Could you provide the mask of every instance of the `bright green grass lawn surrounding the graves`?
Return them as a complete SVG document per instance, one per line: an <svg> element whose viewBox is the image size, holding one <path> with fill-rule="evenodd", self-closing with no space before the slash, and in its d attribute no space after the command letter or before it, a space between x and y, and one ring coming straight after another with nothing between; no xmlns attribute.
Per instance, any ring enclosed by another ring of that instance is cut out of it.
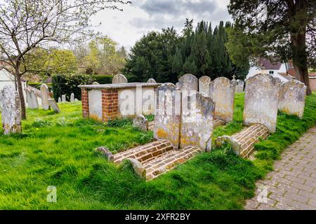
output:
<svg viewBox="0 0 316 224"><path fill-rule="evenodd" d="M243 128L243 102L237 94L234 121L214 137ZM316 124L312 94L303 120L279 114L277 132L256 145L256 160L223 146L146 183L131 167L116 167L93 149L119 152L151 141L152 132L134 129L131 120L83 120L80 103L60 107L58 115L29 110L23 134L0 136L0 209L242 209L282 150ZM57 187L57 203L46 202L48 186Z"/></svg>

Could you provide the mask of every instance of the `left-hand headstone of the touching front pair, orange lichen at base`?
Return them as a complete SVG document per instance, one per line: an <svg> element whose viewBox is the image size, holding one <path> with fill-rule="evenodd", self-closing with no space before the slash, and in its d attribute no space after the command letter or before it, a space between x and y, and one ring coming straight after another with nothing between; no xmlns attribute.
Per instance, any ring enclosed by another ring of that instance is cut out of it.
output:
<svg viewBox="0 0 316 224"><path fill-rule="evenodd" d="M166 139L174 148L180 143L180 98L181 92L172 83L157 87L154 116L154 139Z"/></svg>

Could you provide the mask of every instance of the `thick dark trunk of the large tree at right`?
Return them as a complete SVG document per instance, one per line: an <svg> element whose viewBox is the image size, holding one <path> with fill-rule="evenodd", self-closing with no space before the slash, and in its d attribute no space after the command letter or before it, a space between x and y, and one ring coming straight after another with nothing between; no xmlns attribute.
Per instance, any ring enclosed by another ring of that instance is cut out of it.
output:
<svg viewBox="0 0 316 224"><path fill-rule="evenodd" d="M296 78L307 87L306 94L312 94L308 77L308 61L306 55L305 34L291 34L291 47Z"/></svg>

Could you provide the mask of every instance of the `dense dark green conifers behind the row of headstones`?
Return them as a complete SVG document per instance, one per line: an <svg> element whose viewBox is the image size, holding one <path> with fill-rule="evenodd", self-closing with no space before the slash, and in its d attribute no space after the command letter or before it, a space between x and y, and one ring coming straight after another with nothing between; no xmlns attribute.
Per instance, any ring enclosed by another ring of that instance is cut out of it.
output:
<svg viewBox="0 0 316 224"><path fill-rule="evenodd" d="M124 73L131 81L147 81L154 78L159 83L176 83L185 73L198 78L212 79L225 76L244 79L249 71L249 62L232 63L225 43L228 42L226 29L230 22L220 22L214 30L208 22L199 22L193 31L192 20L185 22L183 35L174 29L152 31L134 45L127 60Z"/></svg>

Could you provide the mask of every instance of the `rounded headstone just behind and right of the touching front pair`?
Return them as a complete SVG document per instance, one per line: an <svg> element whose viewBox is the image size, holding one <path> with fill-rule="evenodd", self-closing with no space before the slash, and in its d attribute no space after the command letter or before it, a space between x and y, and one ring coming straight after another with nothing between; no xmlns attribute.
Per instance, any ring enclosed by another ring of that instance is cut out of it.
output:
<svg viewBox="0 0 316 224"><path fill-rule="evenodd" d="M215 102L215 118L230 123L234 116L235 80L219 77L210 85L209 96Z"/></svg>

